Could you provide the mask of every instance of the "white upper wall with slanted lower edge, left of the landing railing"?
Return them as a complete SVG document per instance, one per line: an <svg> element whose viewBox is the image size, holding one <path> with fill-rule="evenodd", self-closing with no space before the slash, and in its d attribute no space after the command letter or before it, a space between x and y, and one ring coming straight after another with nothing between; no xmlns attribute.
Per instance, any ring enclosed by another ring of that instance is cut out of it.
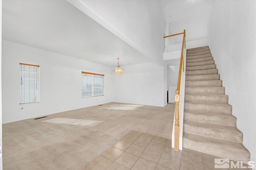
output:
<svg viewBox="0 0 256 170"><path fill-rule="evenodd" d="M157 1L74 1L82 12L140 53L163 64L164 13Z"/></svg>

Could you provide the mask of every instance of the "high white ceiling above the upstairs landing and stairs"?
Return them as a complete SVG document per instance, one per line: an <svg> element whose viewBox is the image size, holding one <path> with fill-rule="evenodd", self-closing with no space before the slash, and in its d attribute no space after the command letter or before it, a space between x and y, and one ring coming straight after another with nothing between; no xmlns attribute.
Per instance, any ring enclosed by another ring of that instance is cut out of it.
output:
<svg viewBox="0 0 256 170"><path fill-rule="evenodd" d="M161 0L166 23L209 18L214 0Z"/></svg>

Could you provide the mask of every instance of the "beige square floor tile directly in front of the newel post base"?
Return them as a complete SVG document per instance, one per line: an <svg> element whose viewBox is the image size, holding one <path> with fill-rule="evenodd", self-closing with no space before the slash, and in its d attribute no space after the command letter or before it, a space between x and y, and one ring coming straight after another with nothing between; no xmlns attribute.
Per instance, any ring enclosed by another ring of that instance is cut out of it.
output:
<svg viewBox="0 0 256 170"><path fill-rule="evenodd" d="M162 165L166 168L170 168L171 170L179 170L180 169L180 159L174 158L172 156L162 154L159 161L159 165Z"/></svg>

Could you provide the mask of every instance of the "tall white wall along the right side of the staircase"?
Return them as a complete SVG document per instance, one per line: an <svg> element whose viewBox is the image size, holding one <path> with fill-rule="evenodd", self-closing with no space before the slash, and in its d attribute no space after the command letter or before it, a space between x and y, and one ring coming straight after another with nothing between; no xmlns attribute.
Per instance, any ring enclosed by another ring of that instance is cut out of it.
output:
<svg viewBox="0 0 256 170"><path fill-rule="evenodd" d="M209 24L210 50L237 117L243 144L256 159L256 1L215 1Z"/></svg>

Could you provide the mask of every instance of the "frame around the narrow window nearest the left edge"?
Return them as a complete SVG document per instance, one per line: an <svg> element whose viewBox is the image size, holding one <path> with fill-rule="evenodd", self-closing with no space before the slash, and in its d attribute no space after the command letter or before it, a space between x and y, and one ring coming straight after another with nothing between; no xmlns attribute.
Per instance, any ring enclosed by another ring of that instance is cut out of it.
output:
<svg viewBox="0 0 256 170"><path fill-rule="evenodd" d="M37 67L37 75L36 75L36 79L37 79L37 88L38 88L38 91L37 91L37 95L38 95L38 100L37 101L34 101L34 102L26 102L26 103L21 103L22 100L21 99L21 65L24 65L24 66L32 66L32 67ZM26 64L26 63L19 63L19 71L20 71L20 78L19 78L19 105L33 105L33 104L38 104L40 102L40 66L39 65L33 65L33 64Z"/></svg>

